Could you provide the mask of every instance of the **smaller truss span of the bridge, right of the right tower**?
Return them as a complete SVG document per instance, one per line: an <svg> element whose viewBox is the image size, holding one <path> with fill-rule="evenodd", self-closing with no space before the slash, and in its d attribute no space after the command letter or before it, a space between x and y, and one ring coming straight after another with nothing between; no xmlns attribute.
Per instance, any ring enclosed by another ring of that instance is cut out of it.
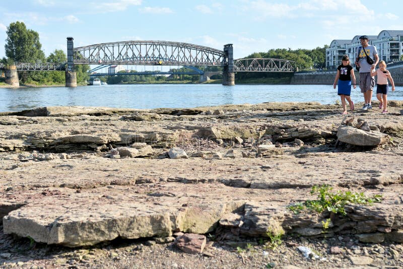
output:
<svg viewBox="0 0 403 269"><path fill-rule="evenodd" d="M294 61L271 58L234 60L234 72L294 72Z"/></svg>

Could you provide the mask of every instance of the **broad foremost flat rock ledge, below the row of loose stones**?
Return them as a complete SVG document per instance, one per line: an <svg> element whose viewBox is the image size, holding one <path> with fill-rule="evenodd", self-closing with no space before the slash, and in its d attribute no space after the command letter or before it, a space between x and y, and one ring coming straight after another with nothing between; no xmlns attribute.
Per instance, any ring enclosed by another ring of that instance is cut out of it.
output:
<svg viewBox="0 0 403 269"><path fill-rule="evenodd" d="M243 225L236 228L247 236L264 236L274 222L303 235L321 234L326 216L294 216L287 206L315 199L310 188L323 183L342 190L348 186L351 191L371 183L380 186L365 193L382 194L383 207L352 210L351 226L362 232L374 232L378 226L401 229L401 223L388 219L403 219L396 215L403 212L401 175L393 173L403 170L403 162L390 163L388 173L382 173L373 170L372 163L360 162L372 156L322 153L244 158L242 163L234 159L111 160L93 156L25 162L29 165L3 171L3 182L9 183L0 195L0 207L8 205L11 211L4 217L4 232L48 244L82 246L117 237L164 237L177 231L205 234L228 214L238 212ZM381 158L380 165L388 158L401 159L399 156ZM360 169L352 170L355 165ZM382 217L385 214L389 217ZM307 227L314 229L307 231ZM372 228L365 231L363 227Z"/></svg>

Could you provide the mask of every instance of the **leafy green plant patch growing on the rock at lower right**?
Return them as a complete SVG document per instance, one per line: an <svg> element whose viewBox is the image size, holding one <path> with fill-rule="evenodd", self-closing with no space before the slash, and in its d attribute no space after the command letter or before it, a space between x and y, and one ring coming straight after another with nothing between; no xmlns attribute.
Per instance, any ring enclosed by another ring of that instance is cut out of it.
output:
<svg viewBox="0 0 403 269"><path fill-rule="evenodd" d="M336 214L346 215L345 206L348 204L371 205L380 203L382 195L375 194L372 197L367 197L363 192L353 193L351 191L330 192L333 188L329 185L313 186L311 194L318 194L316 200L306 200L304 203L297 203L288 206L294 214L298 214L304 210L315 211L322 213L324 211L333 212Z"/></svg>

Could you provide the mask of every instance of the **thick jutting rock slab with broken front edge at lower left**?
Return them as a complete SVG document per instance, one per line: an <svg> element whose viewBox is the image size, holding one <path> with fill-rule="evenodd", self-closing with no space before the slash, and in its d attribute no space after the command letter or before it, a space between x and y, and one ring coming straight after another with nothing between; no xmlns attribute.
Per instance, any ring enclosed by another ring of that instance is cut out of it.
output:
<svg viewBox="0 0 403 269"><path fill-rule="evenodd" d="M223 215L244 204L244 190L237 193L237 200L230 187L220 188L227 188L228 194L217 198L208 191L208 184L180 188L174 183L156 186L153 192L144 186L59 190L4 217L4 232L66 246L117 237L165 237L175 231L205 234L213 231Z"/></svg>

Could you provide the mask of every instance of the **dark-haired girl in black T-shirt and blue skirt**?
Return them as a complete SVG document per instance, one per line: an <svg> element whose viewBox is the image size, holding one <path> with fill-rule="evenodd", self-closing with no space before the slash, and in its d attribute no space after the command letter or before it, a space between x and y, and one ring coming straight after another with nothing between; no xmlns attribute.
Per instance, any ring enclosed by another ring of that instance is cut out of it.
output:
<svg viewBox="0 0 403 269"><path fill-rule="evenodd" d="M337 74L334 79L333 89L336 88L338 83L338 95L342 99L343 112L342 114L348 114L346 108L346 99L349 102L350 110L354 110L354 103L351 100L351 80L353 79L353 87L356 88L356 76L354 75L353 66L350 65L350 59L348 55L344 55L342 58L342 64L337 68Z"/></svg>

